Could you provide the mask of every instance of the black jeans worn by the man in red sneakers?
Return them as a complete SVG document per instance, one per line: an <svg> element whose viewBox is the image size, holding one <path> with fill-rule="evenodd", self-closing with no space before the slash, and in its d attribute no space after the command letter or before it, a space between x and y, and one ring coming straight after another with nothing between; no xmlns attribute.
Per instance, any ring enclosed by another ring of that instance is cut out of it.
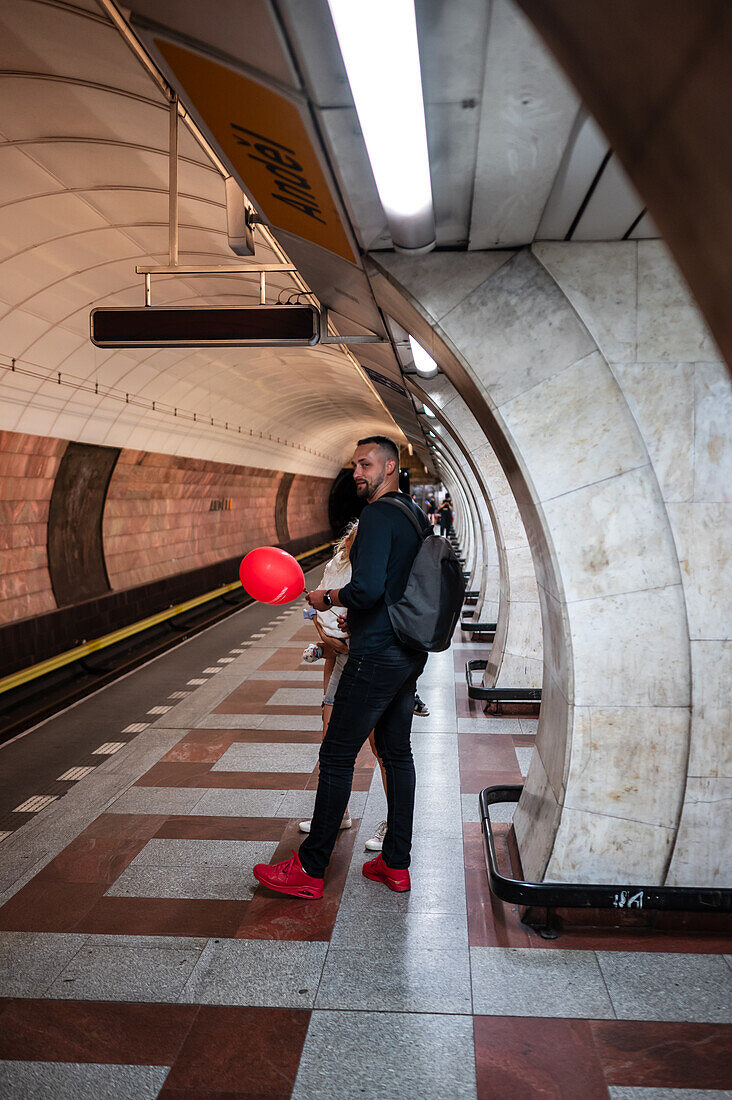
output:
<svg viewBox="0 0 732 1100"><path fill-rule="evenodd" d="M310 832L299 848L308 875L323 878L338 837L353 782L353 765L373 729L386 772L387 867L409 866L415 772L409 734L417 678L426 656L392 646L380 653L349 657L328 732L320 746L320 776Z"/></svg>

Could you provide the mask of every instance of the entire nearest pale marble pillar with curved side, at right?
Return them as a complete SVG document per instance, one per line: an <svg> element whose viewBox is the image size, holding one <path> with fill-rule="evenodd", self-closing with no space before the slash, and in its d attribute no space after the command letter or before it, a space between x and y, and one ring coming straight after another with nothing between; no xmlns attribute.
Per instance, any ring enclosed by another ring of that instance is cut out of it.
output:
<svg viewBox="0 0 732 1100"><path fill-rule="evenodd" d="M493 444L532 547L545 663L514 818L525 873L719 884L732 392L666 250L374 256L372 285Z"/></svg>

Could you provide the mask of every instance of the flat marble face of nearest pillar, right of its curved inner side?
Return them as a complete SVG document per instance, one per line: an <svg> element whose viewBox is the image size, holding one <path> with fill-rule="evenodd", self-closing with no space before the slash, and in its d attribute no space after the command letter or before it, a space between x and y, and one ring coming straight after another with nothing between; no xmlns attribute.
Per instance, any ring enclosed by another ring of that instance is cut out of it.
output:
<svg viewBox="0 0 732 1100"><path fill-rule="evenodd" d="M729 372L660 242L584 244L577 251L562 243L535 251L611 361L643 436L676 544L691 637L689 776L726 778L732 754L732 670L725 640L732 617L732 525L725 508L732 495ZM629 337L635 326L634 354L630 340L613 342L615 326ZM699 845L703 837L708 850L719 846L720 806L715 800L697 799L691 780L687 799L674 850L674 881L686 876L688 882L711 884L717 864Z"/></svg>

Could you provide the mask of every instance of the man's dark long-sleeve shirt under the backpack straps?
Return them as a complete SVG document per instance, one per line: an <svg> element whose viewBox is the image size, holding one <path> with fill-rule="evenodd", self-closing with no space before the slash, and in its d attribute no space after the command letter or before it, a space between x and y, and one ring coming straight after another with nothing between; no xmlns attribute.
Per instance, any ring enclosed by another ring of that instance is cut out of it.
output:
<svg viewBox="0 0 732 1100"><path fill-rule="evenodd" d="M431 534L422 508L404 493L385 493L361 513L350 554L353 572L350 582L340 590L340 603L348 607L350 652L357 656L400 645L392 630L386 600L395 603L404 595L422 543L402 508L385 503L389 497L406 504L425 535Z"/></svg>

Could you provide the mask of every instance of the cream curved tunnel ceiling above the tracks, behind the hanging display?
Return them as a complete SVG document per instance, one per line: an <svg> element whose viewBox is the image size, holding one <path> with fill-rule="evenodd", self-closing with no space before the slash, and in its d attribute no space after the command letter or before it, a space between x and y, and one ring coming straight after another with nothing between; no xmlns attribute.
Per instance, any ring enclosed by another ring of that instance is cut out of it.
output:
<svg viewBox="0 0 732 1100"><path fill-rule="evenodd" d="M354 433L394 435L339 346L90 343L90 309L141 306L135 264L167 263L167 103L92 0L7 0L1 20L0 363L15 371L0 375L0 428L320 474ZM223 178L184 124L178 188L179 262L237 262ZM271 237L255 244L256 263L281 262ZM267 276L269 301L296 289ZM155 305L258 301L256 278L153 277Z"/></svg>

